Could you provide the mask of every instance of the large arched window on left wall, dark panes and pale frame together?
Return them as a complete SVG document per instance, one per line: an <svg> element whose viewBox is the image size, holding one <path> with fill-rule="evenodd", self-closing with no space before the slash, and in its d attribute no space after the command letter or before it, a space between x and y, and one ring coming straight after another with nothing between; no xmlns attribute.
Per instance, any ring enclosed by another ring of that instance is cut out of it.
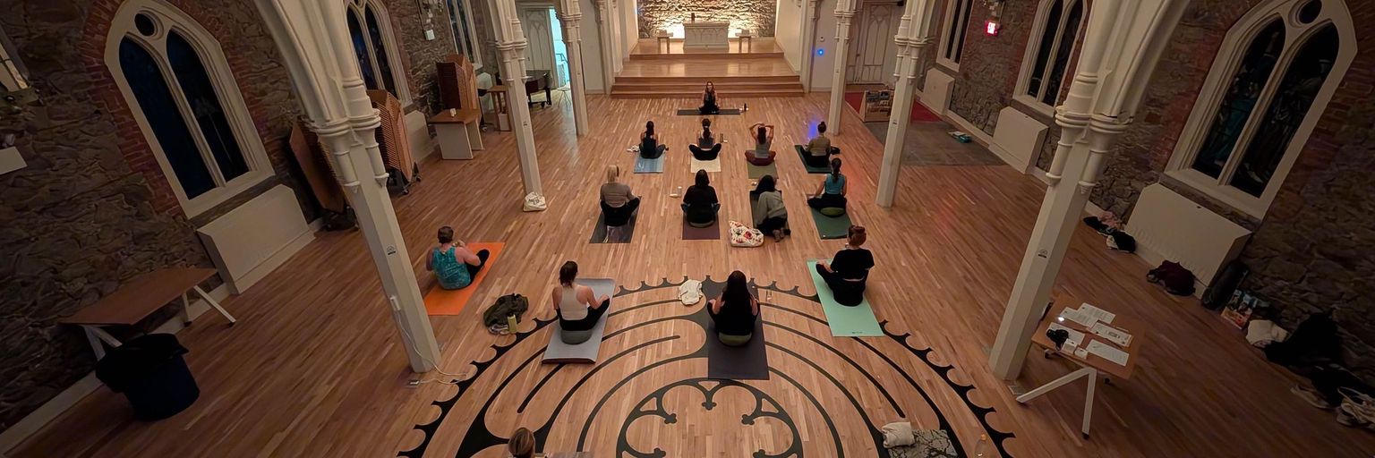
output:
<svg viewBox="0 0 1375 458"><path fill-rule="evenodd" d="M184 12L125 3L104 62L187 216L272 175L219 41Z"/></svg>

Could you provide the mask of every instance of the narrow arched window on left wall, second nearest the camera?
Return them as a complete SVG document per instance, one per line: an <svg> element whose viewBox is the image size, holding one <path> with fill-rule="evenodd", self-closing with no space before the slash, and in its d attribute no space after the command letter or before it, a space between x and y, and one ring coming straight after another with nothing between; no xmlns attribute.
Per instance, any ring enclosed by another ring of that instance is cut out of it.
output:
<svg viewBox="0 0 1375 458"><path fill-rule="evenodd" d="M406 87L406 72L397 61L400 52L386 8L373 0L348 0L348 6L344 15L363 84L368 89L390 92L403 103L408 102L411 98Z"/></svg>

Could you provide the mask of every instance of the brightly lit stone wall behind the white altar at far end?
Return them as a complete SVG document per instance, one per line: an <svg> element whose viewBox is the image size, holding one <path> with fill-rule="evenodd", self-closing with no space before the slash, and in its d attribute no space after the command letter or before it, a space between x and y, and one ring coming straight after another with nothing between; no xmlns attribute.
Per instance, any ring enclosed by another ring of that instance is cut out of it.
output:
<svg viewBox="0 0 1375 458"><path fill-rule="evenodd" d="M732 33L751 29L756 37L771 37L778 15L776 0L639 0L638 8L641 39L689 22L694 12L698 22L729 21Z"/></svg>

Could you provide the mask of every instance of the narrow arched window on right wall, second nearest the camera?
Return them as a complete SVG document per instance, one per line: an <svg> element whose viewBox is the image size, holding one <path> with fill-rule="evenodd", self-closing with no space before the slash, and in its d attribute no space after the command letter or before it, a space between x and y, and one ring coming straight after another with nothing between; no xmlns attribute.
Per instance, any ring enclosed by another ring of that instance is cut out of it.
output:
<svg viewBox="0 0 1375 458"><path fill-rule="evenodd" d="M1037 10L1035 29L1027 40L1022 59L1022 77L1016 98L1027 105L1050 111L1060 103L1060 89L1070 58L1074 55L1079 30L1088 17L1084 0L1046 0Z"/></svg>

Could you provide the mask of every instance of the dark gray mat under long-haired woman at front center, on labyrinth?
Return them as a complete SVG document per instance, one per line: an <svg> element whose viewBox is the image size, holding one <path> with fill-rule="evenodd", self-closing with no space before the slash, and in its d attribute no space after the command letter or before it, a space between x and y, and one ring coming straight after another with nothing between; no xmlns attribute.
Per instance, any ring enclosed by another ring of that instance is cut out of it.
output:
<svg viewBox="0 0 1375 458"><path fill-rule="evenodd" d="M720 290L725 283L701 283L701 293L705 304L707 300L716 298L720 296ZM749 293L756 298L759 297L759 287L749 285ZM712 323L711 315L705 309L701 311L700 316L705 322L703 327L707 329L707 378L718 380L769 380L769 352L764 351L764 319L763 309L759 311L759 318L755 319L754 337L745 347L729 347L716 338L716 325Z"/></svg>

